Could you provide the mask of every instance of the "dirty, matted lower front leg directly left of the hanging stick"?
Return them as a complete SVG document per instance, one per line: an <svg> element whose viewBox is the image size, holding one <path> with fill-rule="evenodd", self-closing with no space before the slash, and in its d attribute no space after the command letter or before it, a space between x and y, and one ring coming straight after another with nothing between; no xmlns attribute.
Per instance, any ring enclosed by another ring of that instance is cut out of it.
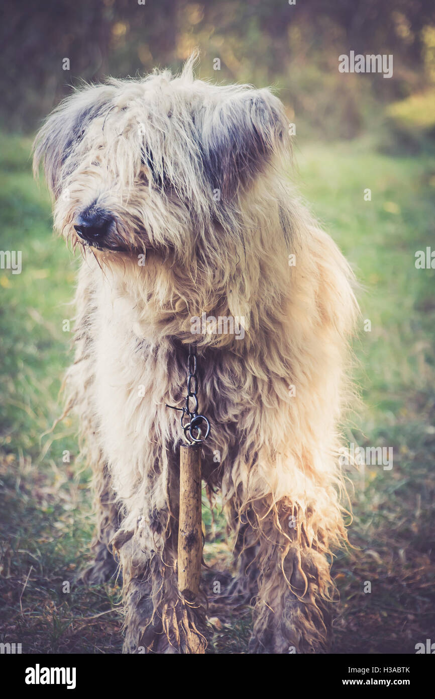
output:
<svg viewBox="0 0 435 699"><path fill-rule="evenodd" d="M202 592L189 603L177 588L177 487L171 492L158 509L152 493L138 499L112 542L124 579L125 653L199 654L207 646Z"/></svg>

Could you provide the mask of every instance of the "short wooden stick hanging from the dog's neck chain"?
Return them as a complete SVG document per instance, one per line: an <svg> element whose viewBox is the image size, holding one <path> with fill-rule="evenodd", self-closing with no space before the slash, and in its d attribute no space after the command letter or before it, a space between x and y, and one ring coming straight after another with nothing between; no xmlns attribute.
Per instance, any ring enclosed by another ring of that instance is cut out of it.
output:
<svg viewBox="0 0 435 699"><path fill-rule="evenodd" d="M202 559L202 445L179 449L178 588L192 602L198 595Z"/></svg>

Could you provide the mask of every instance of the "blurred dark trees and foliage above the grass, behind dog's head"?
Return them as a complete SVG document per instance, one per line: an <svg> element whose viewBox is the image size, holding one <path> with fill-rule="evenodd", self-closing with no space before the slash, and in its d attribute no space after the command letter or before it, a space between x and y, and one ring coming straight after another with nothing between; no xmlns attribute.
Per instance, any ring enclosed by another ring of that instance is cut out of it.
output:
<svg viewBox="0 0 435 699"><path fill-rule="evenodd" d="M1 1L0 122L12 129L34 130L69 85L178 69L195 45L201 75L277 85L290 115L327 136L355 135L376 103L429 80L434 0ZM392 53L394 80L341 75L350 50Z"/></svg>

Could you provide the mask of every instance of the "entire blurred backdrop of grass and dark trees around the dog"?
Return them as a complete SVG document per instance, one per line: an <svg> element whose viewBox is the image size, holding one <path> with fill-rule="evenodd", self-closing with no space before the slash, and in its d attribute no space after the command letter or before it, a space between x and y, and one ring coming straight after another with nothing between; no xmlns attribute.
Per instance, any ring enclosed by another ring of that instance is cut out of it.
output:
<svg viewBox="0 0 435 699"><path fill-rule="evenodd" d="M414 653L435 641L435 271L415 268L415 252L435 250L433 1L2 4L0 248L22 250L22 273L0 270L0 642L26 653L121 647L119 587L65 591L92 531L77 426L68 418L48 431L71 361L78 261L52 237L31 140L71 85L177 71L196 47L200 78L277 90L296 127L288 176L361 282L362 406L344 433L394 457L392 470L349 469L353 547L332 569L341 593L333 652ZM393 77L339 73L339 55L351 50L392 54ZM222 570L230 547L219 507L205 504L204 519L207 562ZM249 610L213 624L210 652L246 652Z"/></svg>

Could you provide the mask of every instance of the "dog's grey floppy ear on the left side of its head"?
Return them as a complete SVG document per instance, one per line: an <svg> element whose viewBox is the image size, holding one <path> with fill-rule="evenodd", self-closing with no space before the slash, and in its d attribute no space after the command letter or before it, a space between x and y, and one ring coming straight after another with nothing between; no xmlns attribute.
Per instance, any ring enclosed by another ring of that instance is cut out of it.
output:
<svg viewBox="0 0 435 699"><path fill-rule="evenodd" d="M67 97L50 114L34 141L34 175L43 163L47 185L54 196L60 192L61 168L89 123L108 109L112 88L87 87Z"/></svg>

